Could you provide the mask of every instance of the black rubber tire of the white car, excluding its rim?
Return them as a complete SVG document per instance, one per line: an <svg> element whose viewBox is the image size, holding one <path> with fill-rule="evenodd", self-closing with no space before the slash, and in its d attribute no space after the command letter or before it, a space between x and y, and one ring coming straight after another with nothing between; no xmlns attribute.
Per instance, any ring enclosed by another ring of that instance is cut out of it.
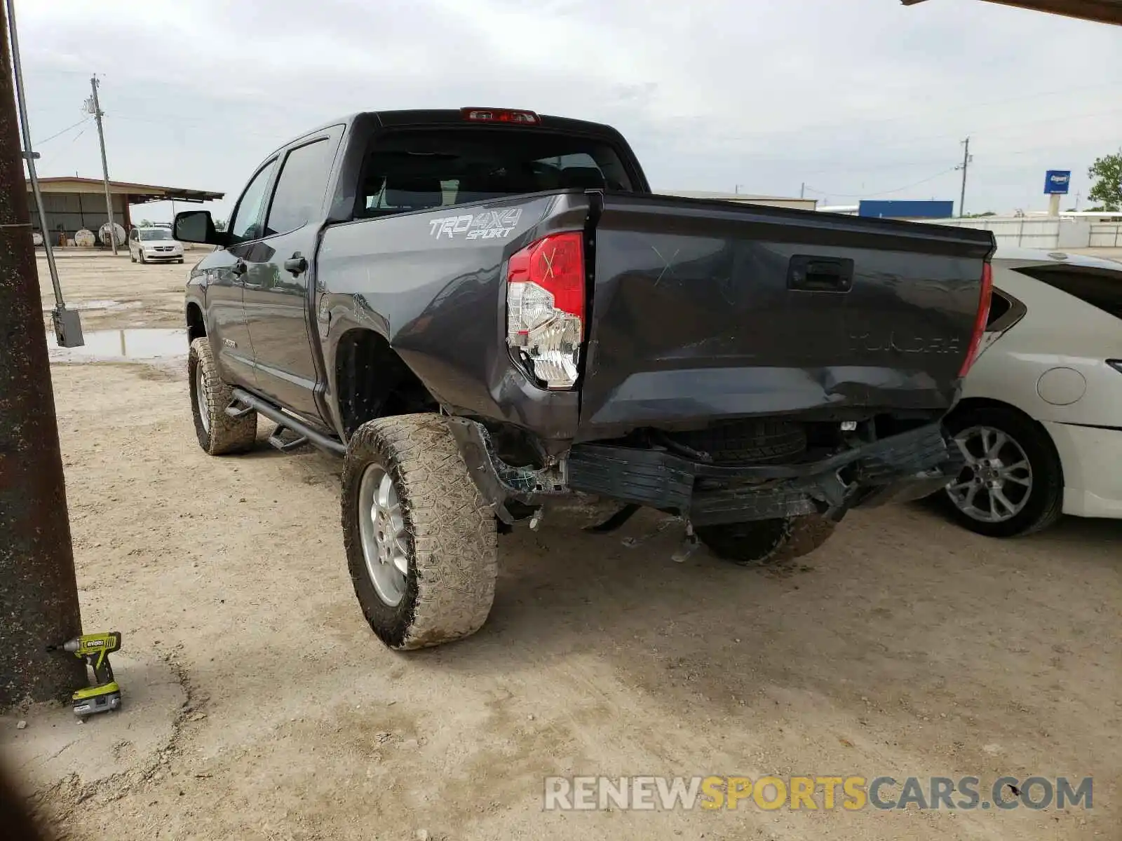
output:
<svg viewBox="0 0 1122 841"><path fill-rule="evenodd" d="M1028 415L1003 406L969 406L951 412L944 420L951 436L972 426L990 426L1013 438L1028 456L1032 468L1029 500L1015 516L1001 523L983 523L964 514L939 491L938 505L955 523L986 537L1020 537L1048 528L1064 512L1064 466L1056 445L1042 426Z"/></svg>

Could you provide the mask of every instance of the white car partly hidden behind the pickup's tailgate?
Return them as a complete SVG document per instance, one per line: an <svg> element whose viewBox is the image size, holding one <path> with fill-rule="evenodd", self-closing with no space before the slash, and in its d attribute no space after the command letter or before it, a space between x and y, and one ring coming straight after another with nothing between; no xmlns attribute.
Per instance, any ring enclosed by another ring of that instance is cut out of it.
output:
<svg viewBox="0 0 1122 841"><path fill-rule="evenodd" d="M987 333L946 425L967 464L944 501L966 528L1122 518L1122 262L997 249Z"/></svg>

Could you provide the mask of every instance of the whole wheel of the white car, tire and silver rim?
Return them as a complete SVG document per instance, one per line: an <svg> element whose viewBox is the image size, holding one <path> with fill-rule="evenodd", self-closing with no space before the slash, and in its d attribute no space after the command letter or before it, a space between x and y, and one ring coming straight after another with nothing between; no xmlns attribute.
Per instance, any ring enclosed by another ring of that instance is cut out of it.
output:
<svg viewBox="0 0 1122 841"><path fill-rule="evenodd" d="M951 413L947 431L966 466L942 491L950 516L987 537L1031 534L1055 523L1064 506L1064 472L1048 433L1012 408Z"/></svg>

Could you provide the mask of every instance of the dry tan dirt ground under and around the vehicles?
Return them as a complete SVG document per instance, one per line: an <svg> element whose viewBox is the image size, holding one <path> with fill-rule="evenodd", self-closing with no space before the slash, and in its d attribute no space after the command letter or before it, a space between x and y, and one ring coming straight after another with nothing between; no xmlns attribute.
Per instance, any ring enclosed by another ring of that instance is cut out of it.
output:
<svg viewBox="0 0 1122 841"><path fill-rule="evenodd" d="M178 326L184 267L59 266L141 302L86 331ZM558 514L502 538L478 635L401 655L351 591L338 461L204 455L177 363L52 375L84 625L184 699L150 761L30 786L66 838L1122 838L1122 523L995 542L892 507L778 575ZM83 729L141 715L144 674ZM543 811L545 776L599 774L1094 776L1094 808Z"/></svg>

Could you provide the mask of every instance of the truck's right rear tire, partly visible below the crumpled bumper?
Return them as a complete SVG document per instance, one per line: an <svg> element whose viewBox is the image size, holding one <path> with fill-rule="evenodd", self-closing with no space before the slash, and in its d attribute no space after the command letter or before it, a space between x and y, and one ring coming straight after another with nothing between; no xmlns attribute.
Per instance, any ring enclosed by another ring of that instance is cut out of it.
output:
<svg viewBox="0 0 1122 841"><path fill-rule="evenodd" d="M698 538L724 561L741 566L775 566L817 549L837 526L817 515L719 526L698 526Z"/></svg>

